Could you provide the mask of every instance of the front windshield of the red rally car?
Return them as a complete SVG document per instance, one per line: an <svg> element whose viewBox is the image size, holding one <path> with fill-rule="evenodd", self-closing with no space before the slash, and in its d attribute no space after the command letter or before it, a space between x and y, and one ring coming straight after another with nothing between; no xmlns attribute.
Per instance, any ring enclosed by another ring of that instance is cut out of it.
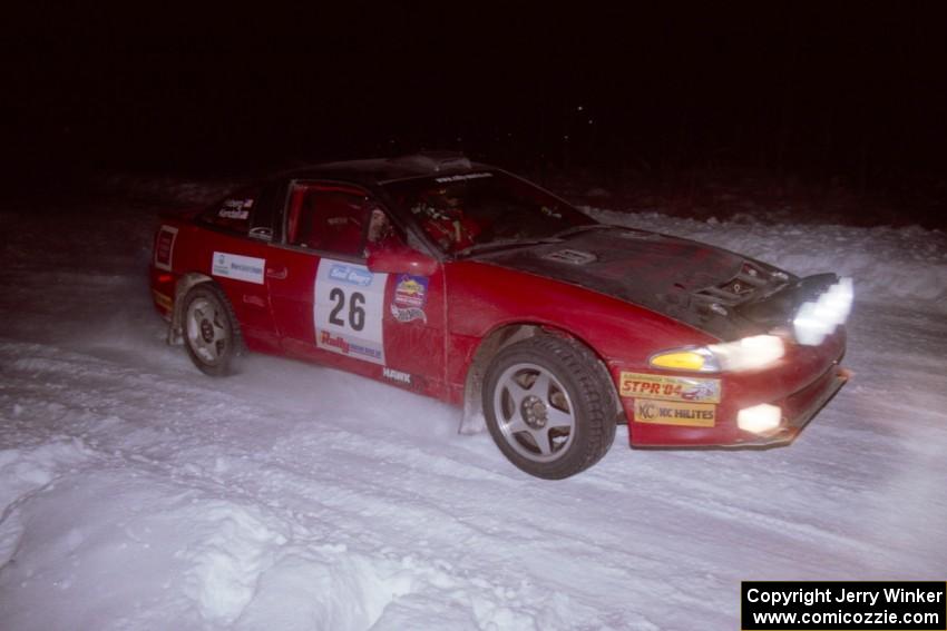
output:
<svg viewBox="0 0 947 631"><path fill-rule="evenodd" d="M417 178L385 189L442 252L460 256L597 225L562 199L501 171Z"/></svg>

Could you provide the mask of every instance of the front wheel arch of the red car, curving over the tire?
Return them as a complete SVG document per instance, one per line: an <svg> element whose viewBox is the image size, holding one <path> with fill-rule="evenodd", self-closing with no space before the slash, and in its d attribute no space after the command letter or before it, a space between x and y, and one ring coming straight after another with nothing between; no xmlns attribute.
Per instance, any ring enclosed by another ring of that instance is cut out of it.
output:
<svg viewBox="0 0 947 631"><path fill-rule="evenodd" d="M537 335L554 335L580 344L588 349L598 359L598 367L612 391L613 401L615 402L615 422L617 424L624 424L626 422L625 411L622 407L618 391L615 387L615 382L612 379L612 374L608 372L607 364L590 344L563 328L541 323L520 322L507 323L495 327L484 336L477 346L477 351L473 352L473 358L467 368L467 377L463 383L463 416L460 421L460 433L472 434L485 427L482 402L484 377L487 366L490 365L497 353L510 344Z"/></svg>

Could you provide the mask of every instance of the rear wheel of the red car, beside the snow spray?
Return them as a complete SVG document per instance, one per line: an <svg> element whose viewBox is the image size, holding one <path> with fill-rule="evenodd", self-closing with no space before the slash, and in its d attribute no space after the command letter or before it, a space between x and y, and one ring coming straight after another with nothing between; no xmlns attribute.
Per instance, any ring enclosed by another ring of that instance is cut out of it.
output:
<svg viewBox="0 0 947 631"><path fill-rule="evenodd" d="M226 296L209 283L196 285L184 298L184 345L202 372L212 376L233 372L240 328Z"/></svg>

